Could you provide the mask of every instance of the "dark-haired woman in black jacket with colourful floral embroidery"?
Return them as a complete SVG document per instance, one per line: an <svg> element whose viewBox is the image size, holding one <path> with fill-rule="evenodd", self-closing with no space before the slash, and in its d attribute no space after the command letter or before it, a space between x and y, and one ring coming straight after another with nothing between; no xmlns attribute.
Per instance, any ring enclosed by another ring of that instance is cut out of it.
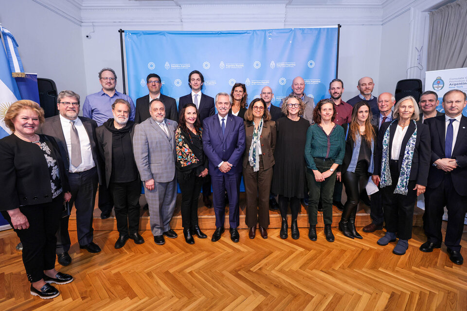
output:
<svg viewBox="0 0 467 311"><path fill-rule="evenodd" d="M208 174L202 132L196 105L186 104L180 111L175 146L177 179L181 190L181 223L188 244L195 243L194 234L200 239L207 238L198 226L198 197L203 177Z"/></svg>

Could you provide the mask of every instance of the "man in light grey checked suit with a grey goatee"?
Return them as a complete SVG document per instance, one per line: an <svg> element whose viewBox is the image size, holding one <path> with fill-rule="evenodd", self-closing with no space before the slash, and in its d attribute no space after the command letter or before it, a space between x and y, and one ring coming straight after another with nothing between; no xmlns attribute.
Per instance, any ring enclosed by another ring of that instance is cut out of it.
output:
<svg viewBox="0 0 467 311"><path fill-rule="evenodd" d="M149 105L151 118L135 126L133 153L136 166L144 181L149 219L154 242L165 243L167 238L177 238L170 229L177 200L175 173L175 130L177 122L165 119L165 106L154 99Z"/></svg>

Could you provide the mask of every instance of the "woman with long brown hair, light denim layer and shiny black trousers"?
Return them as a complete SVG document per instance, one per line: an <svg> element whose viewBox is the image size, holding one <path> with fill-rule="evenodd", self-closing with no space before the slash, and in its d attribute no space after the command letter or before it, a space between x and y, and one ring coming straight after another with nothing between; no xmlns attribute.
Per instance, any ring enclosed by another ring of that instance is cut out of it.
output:
<svg viewBox="0 0 467 311"><path fill-rule="evenodd" d="M371 124L369 104L363 101L357 103L352 111L350 124L345 125L348 129L341 173L347 202L342 211L339 230L348 238L361 239L355 228L355 215L360 193L365 190L368 177L373 173L373 151L377 133L377 127Z"/></svg>

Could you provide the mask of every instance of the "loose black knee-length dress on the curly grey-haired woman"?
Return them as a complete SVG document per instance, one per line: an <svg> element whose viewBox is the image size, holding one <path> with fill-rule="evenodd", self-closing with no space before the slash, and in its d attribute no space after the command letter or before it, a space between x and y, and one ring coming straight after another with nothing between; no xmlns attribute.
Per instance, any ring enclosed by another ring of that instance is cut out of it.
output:
<svg viewBox="0 0 467 311"><path fill-rule="evenodd" d="M305 142L310 122L287 117L276 121L277 139L274 151L272 192L288 198L305 195Z"/></svg>

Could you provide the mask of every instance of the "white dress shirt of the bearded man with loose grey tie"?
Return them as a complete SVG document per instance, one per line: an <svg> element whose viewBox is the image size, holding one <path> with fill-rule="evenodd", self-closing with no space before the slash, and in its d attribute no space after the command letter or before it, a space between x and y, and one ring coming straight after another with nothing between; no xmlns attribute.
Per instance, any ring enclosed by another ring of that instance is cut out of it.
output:
<svg viewBox="0 0 467 311"><path fill-rule="evenodd" d="M92 158L91 142L89 140L88 132L86 131L83 122L81 122L81 119L76 118L73 120L74 127L78 131L79 144L81 147L81 164L76 167L72 165L72 136L70 134L72 124L70 124L70 121L72 120L68 120L67 118L60 115L60 123L62 124L63 135L65 136L65 141L67 142L68 155L70 158L70 168L68 171L70 173L88 171L96 166L94 159Z"/></svg>

